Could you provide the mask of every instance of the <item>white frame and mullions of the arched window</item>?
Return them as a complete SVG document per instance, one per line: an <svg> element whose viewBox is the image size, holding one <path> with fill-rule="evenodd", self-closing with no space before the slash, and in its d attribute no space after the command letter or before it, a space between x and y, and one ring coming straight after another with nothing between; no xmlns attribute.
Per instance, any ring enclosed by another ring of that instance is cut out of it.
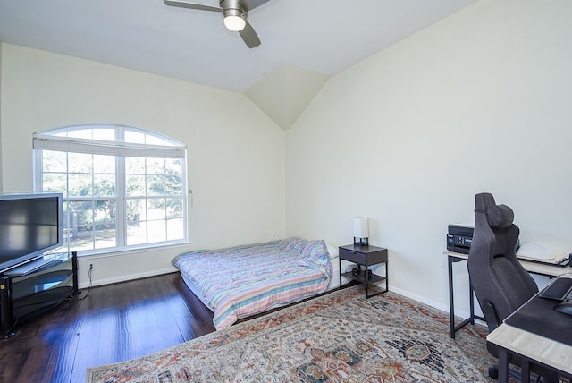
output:
<svg viewBox="0 0 572 383"><path fill-rule="evenodd" d="M115 130L115 140L89 140L84 138L65 137L62 134L86 130L105 128ZM123 137L125 132L137 132L144 134L156 140L164 141L163 145L125 142ZM43 175L43 158L42 150L62 151L66 153L83 153L94 155L108 155L115 157L115 204L116 217L125 217L125 201L128 200L125 185L125 157L156 157L156 158L179 158L182 166L182 214L183 214L183 238L177 240L166 240L158 243L142 243L134 245L126 245L126 226L125 219L116 219L116 244L117 246L93 249L89 251L79 251L79 255L101 254L106 252L128 251L132 249L147 249L160 246L170 246L178 243L188 243L188 193L187 193L187 148L177 140L164 136L157 132L150 132L144 129L135 128L125 125L102 125L102 124L85 124L75 125L44 132L37 132L33 135L33 151L34 151L34 190L43 191L42 175ZM107 200L107 198L105 198ZM87 197L85 199L73 197L68 198L64 194L63 200L97 200L95 197ZM69 223L64 225L68 226Z"/></svg>

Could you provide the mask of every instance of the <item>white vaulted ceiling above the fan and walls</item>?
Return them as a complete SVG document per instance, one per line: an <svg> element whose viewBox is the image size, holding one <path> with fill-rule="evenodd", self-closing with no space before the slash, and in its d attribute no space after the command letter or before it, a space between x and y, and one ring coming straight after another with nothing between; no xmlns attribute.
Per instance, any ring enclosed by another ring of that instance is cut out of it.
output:
<svg viewBox="0 0 572 383"><path fill-rule="evenodd" d="M270 0L249 49L221 14L163 0L0 0L0 41L242 92L289 129L330 76L475 1Z"/></svg>

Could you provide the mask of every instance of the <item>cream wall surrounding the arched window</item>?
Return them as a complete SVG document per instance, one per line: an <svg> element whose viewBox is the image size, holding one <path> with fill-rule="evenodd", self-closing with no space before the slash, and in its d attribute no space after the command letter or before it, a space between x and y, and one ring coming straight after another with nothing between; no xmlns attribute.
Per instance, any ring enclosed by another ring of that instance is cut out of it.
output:
<svg viewBox="0 0 572 383"><path fill-rule="evenodd" d="M284 235L284 132L240 93L2 44L4 191L32 190L32 133L83 123L160 132L188 148L188 246L80 260L80 285L172 271L181 251Z"/></svg>

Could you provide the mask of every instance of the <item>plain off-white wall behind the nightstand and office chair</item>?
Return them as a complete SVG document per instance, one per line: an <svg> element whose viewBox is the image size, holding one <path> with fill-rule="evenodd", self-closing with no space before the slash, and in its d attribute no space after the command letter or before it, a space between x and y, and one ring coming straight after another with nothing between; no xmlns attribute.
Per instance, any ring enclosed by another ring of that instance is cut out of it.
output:
<svg viewBox="0 0 572 383"><path fill-rule="evenodd" d="M351 243L369 217L391 289L445 310L447 225L475 193L572 251L570 20L568 0L481 0L332 78L286 132L287 235Z"/></svg>

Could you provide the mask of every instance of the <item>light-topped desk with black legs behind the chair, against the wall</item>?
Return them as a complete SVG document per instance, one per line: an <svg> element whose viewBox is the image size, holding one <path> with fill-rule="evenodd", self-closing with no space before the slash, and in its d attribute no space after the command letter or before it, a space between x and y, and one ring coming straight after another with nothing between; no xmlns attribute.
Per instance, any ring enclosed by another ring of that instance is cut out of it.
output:
<svg viewBox="0 0 572 383"><path fill-rule="evenodd" d="M482 317L475 316L475 299L473 297L473 286L469 278L469 318L463 320L457 326L455 326L455 304L454 304L454 292L453 292L453 263L460 262L462 260L468 260L468 254L462 254L460 252L444 251L443 254L447 256L448 269L449 269L449 315L450 315L450 337L455 338L455 333L458 329L467 326L467 324L475 324L475 319L484 320ZM570 266L552 266L544 263L530 262L527 260L519 260L522 266L532 274L538 274L546 277L559 277L563 274L572 272Z"/></svg>

